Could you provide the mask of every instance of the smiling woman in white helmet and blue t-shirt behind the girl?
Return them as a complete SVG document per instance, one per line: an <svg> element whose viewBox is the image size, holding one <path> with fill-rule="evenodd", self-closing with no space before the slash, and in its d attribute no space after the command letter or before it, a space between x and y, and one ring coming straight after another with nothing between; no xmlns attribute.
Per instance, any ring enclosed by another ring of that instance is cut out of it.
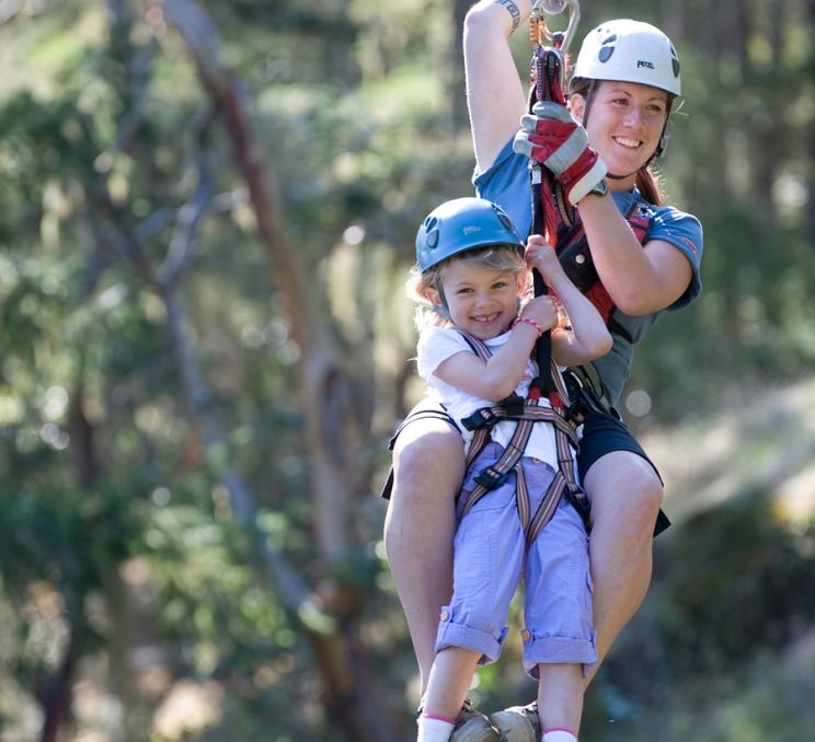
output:
<svg viewBox="0 0 815 742"><path fill-rule="evenodd" d="M526 93L508 39L529 13L529 0L482 0L468 13L464 28L475 187L481 197L503 206L521 233L531 224L528 158L516 153L513 143L526 112ZM562 172L560 178L567 193L574 190L572 202L597 274L616 305L609 324L612 350L592 370L604 406L619 401L632 345L662 311L686 306L701 288L701 227L693 217L659 205L647 171L664 144L679 84L679 63L669 39L633 21L610 22L590 32L575 63L570 113L575 131L582 134L585 127L590 144L575 158L576 166L590 178L602 172L597 162L605 163L608 175L590 189L583 182L576 190L574 172ZM551 120L550 126L544 117L527 117L516 147L543 156L538 143L546 141L548 130L556 135L561 129L555 125L563 125ZM581 123L583 127L577 126ZM647 216L644 244L623 216L632 208ZM440 415L409 421L393 445L384 541L424 693L438 610L450 594L454 500L463 455L460 436ZM606 411L596 410L584 422L578 468L592 502L596 672L647 591L663 486L628 428Z"/></svg>

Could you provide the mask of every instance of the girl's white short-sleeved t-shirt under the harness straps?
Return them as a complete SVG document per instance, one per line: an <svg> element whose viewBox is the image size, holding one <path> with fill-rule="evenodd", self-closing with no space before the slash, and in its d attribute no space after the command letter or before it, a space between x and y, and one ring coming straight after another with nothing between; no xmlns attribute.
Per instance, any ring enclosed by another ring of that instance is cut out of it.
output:
<svg viewBox="0 0 815 742"><path fill-rule="evenodd" d="M509 333L504 333L489 340L483 340L483 343L492 353L496 353L508 338ZM416 366L418 368L418 375L427 383L431 394L445 406L450 417L456 420L464 439L464 447L469 448L473 434L461 425L461 419L468 417L477 409L493 406L497 401L479 399L472 394L462 392L457 386L452 386L435 375L436 369L443 361L446 361L462 350L469 353L474 352L457 329L452 327L429 327L422 332L418 337ZM521 397L526 397L529 393L529 382L535 379L536 374L536 367L530 360L527 363L520 383L515 387L515 393ZM549 407L549 399L541 397L538 401L538 406ZM501 445L506 447L513 437L514 430L514 421L503 420L493 426L492 439L501 443ZM532 426L532 434L529 437L529 442L524 454L540 459L547 462L552 468L558 469L558 449L554 441L554 427L549 422L536 422Z"/></svg>

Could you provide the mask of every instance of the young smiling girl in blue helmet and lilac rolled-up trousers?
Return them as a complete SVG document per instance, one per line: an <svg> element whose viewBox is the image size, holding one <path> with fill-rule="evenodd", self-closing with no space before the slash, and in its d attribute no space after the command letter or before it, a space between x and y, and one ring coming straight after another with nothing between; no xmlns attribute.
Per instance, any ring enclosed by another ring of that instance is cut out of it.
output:
<svg viewBox="0 0 815 742"><path fill-rule="evenodd" d="M416 258L409 291L421 302L418 373L459 424L466 448L473 433L462 420L513 394L527 397L537 371L530 353L543 333L551 331L552 358L561 366L588 362L611 347L602 318L569 280L554 251L533 235L524 256L520 237L495 204L460 198L435 209L418 230ZM528 294L527 266L554 292L569 325L559 324L551 295L529 299L518 312ZM537 406L551 407L543 396ZM450 739L475 665L501 653L521 573L524 664L539 681L543 740L576 739L583 665L596 659L588 537L576 509L552 486L564 465L571 472L565 478L574 476L573 452L566 445L559 456L555 426L536 421L518 465L497 486L481 486L484 474L495 471L491 467L501 467L496 462L510 440L520 445L515 428L514 420L491 428L457 500L454 592L440 613L418 742ZM546 523L537 535L536 521ZM479 739L498 737L490 731Z"/></svg>

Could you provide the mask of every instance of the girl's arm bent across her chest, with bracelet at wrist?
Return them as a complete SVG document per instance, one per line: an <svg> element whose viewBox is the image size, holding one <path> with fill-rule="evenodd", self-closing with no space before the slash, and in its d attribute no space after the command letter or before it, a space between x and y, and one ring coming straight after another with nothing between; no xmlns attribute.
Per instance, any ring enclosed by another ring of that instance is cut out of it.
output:
<svg viewBox="0 0 815 742"><path fill-rule="evenodd" d="M539 335L536 325L551 329L558 322L558 311L550 297L536 297L524 308L521 317L535 324L519 322L515 325L504 346L487 361L473 352L461 351L439 363L434 374L482 399L500 402L509 396L526 372Z"/></svg>

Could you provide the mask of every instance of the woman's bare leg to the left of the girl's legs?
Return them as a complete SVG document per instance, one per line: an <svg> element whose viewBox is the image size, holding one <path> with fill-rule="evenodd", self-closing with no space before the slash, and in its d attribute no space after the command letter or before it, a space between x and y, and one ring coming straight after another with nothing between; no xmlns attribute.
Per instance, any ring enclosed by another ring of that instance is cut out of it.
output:
<svg viewBox="0 0 815 742"><path fill-rule="evenodd" d="M455 500L464 476L461 436L417 420L397 439L384 548L418 662L422 694L436 651L441 605L451 594Z"/></svg>

